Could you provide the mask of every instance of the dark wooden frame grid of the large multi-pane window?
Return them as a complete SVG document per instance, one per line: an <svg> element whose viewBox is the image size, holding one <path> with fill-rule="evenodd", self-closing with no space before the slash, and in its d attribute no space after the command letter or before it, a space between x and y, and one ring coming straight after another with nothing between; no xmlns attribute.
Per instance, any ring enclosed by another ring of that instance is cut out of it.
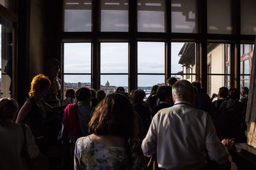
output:
<svg viewBox="0 0 256 170"><path fill-rule="evenodd" d="M201 81L202 87L207 87L207 43L230 43L230 87L240 87L240 45L253 43L253 35L241 35L241 0L232 1L232 34L207 33L207 2L198 0L198 33L172 32L171 2L166 0L166 32L138 32L137 3L129 0L129 32L100 32L100 4L92 1L92 32L63 32L63 41L92 41L92 88L100 89L100 42L129 42L129 91L137 89L137 44L138 41L162 41L165 43L165 81L171 73L171 45L172 42L196 43L196 80ZM61 53L62 55L62 53ZM212 67L212 66L211 66Z"/></svg>

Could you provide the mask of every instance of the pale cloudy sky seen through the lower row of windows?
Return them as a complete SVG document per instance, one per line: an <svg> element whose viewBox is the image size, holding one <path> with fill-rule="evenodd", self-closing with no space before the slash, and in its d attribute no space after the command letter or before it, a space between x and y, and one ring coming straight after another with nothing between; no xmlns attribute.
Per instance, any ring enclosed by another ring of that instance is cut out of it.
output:
<svg viewBox="0 0 256 170"><path fill-rule="evenodd" d="M172 73L182 71L178 53L184 43L172 43ZM100 84L128 85L128 43L100 43ZM64 73L91 73L91 43L64 44ZM138 42L138 73L164 73L164 43ZM90 75L65 75L65 82L90 82ZM164 83L164 75L138 75L138 87Z"/></svg>

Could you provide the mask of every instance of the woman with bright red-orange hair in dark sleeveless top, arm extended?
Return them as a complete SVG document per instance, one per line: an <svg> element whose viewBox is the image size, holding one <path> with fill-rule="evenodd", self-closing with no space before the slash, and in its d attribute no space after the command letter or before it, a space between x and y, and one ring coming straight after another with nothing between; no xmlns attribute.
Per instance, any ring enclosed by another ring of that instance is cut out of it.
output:
<svg viewBox="0 0 256 170"><path fill-rule="evenodd" d="M31 90L29 92L29 97L20 109L16 123L27 124L35 140L40 147L44 145L45 137L47 135L47 124L45 121L45 111L55 112L65 109L66 106L56 106L52 107L45 103L43 98L47 95L49 87L51 86L51 81L44 74L38 74L31 81ZM41 150L42 147L40 147ZM43 151L42 151L43 152Z"/></svg>

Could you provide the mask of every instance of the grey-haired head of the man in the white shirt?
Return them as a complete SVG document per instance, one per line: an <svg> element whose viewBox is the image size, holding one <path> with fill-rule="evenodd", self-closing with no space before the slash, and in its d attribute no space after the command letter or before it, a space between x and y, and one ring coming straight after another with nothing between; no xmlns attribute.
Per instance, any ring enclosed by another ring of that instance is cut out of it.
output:
<svg viewBox="0 0 256 170"><path fill-rule="evenodd" d="M172 96L176 100L191 101L193 95L193 86L188 80L180 80L172 85Z"/></svg>

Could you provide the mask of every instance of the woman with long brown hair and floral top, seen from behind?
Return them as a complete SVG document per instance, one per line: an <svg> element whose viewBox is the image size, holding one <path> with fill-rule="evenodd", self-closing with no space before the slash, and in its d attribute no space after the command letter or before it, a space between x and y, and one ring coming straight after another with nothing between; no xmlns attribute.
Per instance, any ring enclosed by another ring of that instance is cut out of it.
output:
<svg viewBox="0 0 256 170"><path fill-rule="evenodd" d="M138 134L138 123L127 97L110 94L104 98L88 129L90 135L76 142L75 169L145 168L140 144L132 140Z"/></svg>

